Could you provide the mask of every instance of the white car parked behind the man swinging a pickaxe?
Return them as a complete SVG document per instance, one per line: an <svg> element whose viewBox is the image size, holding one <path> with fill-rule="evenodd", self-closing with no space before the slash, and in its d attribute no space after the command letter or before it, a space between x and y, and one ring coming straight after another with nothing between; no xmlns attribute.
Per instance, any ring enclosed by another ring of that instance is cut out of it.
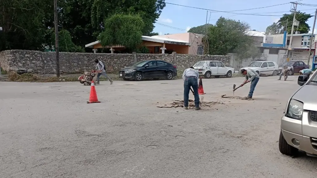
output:
<svg viewBox="0 0 317 178"><path fill-rule="evenodd" d="M243 67L241 69L253 69L258 74L272 75L276 76L279 73L279 68L276 62L273 61L256 61L251 62L248 67ZM241 71L239 69L239 71Z"/></svg>

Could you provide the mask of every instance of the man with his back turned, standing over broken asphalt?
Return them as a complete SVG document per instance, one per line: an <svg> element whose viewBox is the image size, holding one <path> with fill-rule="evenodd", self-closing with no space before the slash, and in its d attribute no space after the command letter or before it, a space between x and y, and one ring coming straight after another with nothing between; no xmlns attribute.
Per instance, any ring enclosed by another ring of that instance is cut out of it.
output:
<svg viewBox="0 0 317 178"><path fill-rule="evenodd" d="M197 70L194 69L194 67L190 67L184 70L183 80L184 80L184 109L188 109L189 91L192 87L194 91L194 97L195 97L195 110L200 110L199 95L198 95L199 73L197 72Z"/></svg>

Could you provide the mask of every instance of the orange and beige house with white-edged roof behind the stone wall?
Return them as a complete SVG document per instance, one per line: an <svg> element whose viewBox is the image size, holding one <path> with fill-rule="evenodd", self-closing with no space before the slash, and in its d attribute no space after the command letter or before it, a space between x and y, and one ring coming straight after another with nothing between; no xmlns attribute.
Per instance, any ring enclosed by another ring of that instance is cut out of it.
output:
<svg viewBox="0 0 317 178"><path fill-rule="evenodd" d="M142 36L142 46L146 46L151 54L203 54L204 35L194 33L180 33L170 35ZM106 46L103 47L100 41L94 41L85 45L86 48L93 48L96 52L97 48L110 48L111 53L124 50L124 46Z"/></svg>

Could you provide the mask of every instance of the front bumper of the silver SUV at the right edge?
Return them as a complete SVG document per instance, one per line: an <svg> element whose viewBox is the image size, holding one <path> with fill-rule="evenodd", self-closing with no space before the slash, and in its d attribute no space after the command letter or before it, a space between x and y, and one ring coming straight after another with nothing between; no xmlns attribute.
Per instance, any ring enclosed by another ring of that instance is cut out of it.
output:
<svg viewBox="0 0 317 178"><path fill-rule="evenodd" d="M286 142L308 154L317 155L317 133L315 132L315 134L312 135L304 135L302 130L305 128L309 128L309 130L317 130L317 122L310 119L309 111L303 112L302 120L288 118L283 114L281 118L281 130ZM307 130L305 129L305 131ZM292 142L293 139L297 139L299 141L299 146L294 145Z"/></svg>

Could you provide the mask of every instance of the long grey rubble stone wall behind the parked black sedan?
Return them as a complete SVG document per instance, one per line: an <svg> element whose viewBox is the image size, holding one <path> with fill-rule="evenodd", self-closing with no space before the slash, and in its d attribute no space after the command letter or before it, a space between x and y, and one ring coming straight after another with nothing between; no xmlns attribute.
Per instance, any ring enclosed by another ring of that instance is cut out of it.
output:
<svg viewBox="0 0 317 178"><path fill-rule="evenodd" d="M27 50L8 50L0 52L0 66L6 71L19 69L34 73L55 73L54 52ZM108 73L117 73L120 69L133 65L141 60L164 60L175 64L179 70L194 65L200 60L220 60L229 66L230 56L193 55L193 54L104 54L104 53L60 53L61 73L81 73L91 70L98 59L105 63Z"/></svg>

